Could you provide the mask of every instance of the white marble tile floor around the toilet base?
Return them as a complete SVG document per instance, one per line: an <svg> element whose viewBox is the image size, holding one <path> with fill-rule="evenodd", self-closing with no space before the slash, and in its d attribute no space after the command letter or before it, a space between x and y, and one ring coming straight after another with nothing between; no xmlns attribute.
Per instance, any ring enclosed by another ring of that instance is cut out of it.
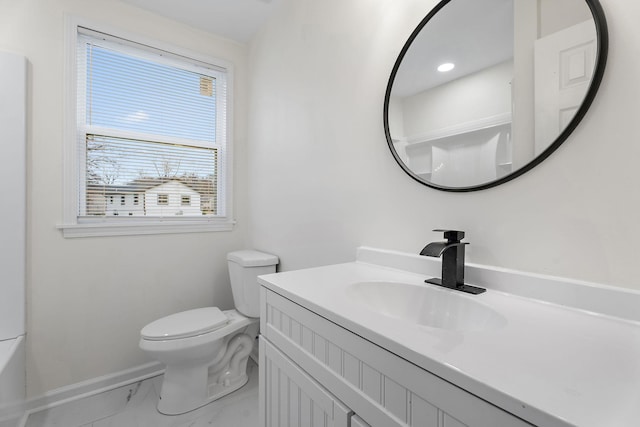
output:
<svg viewBox="0 0 640 427"><path fill-rule="evenodd" d="M258 366L249 360L249 382L202 408L167 416L156 409L162 376L30 414L25 427L255 427Z"/></svg>

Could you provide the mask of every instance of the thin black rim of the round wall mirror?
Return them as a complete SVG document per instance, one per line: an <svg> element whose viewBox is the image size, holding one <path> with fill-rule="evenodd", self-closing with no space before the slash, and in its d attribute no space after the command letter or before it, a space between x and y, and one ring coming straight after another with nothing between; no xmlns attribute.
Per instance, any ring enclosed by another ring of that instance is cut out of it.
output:
<svg viewBox="0 0 640 427"><path fill-rule="evenodd" d="M585 95L584 101L576 111L575 116L571 119L567 127L560 133L560 135L558 135L555 141L553 141L553 143L551 143L542 153L536 156L529 163L527 163L520 169L517 169L509 173L508 175L503 176L502 178L499 178L484 184L474 185L469 187L446 187L446 186L434 184L432 182L428 182L420 178L418 175L413 173L411 169L409 169L409 167L405 165L402 159L400 159L400 157L398 156L398 153L396 152L393 146L393 140L391 139L391 134L389 132L389 100L391 98L391 89L393 87L393 82L395 80L396 74L398 72L398 69L400 68L400 64L402 63L404 56L406 55L407 51L411 47L411 44L413 43L415 38L418 36L420 31L422 31L424 26L427 25L427 23L431 20L431 18L436 13L438 13L440 9L446 6L450 1L451 0L442 0L431 10L427 14L427 16L418 24L416 29L413 30L413 32L409 36L409 39L407 40L402 50L400 51L400 54L398 55L398 59L396 59L396 62L393 66L393 70L391 71L391 76L389 77L389 82L387 83L387 90L384 97L384 107L383 107L384 133L387 138L387 144L389 146L389 149L391 150L391 154L393 154L393 157L396 159L396 162L411 178L418 181L419 183L431 188L435 188L437 190L450 191L450 192L470 192L470 191L485 190L487 188L496 187L500 184L504 184L505 182L511 181L512 179L515 179L520 175L524 174L525 172L528 172L529 170L533 169L535 166L537 166L543 160L549 157L551 153L553 153L556 149L558 149L558 147L562 145L562 143L575 130L575 128L580 123L580 121L582 121L585 114L587 113L587 110L591 106L591 103L593 102L593 99L595 98L596 93L598 92L598 88L600 87L600 83L604 75L604 69L607 63L607 55L609 51L609 33L607 29L607 20L604 16L604 11L602 10L602 6L600 5L599 0L584 0L589 6L589 9L591 10L591 14L593 16L593 20L596 27L596 34L598 38L597 59L596 59L595 69L593 72L593 78L591 79L591 83Z"/></svg>

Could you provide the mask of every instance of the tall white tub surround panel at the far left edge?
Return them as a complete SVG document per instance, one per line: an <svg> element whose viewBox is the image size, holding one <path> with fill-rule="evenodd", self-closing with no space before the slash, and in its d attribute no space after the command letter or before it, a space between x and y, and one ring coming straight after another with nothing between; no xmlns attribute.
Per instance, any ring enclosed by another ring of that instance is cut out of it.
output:
<svg viewBox="0 0 640 427"><path fill-rule="evenodd" d="M25 332L27 60L0 52L0 340Z"/></svg>

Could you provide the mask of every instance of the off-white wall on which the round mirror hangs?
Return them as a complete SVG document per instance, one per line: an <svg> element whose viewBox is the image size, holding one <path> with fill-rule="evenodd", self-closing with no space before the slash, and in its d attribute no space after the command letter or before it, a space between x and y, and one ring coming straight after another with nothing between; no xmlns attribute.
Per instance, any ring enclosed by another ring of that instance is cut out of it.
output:
<svg viewBox="0 0 640 427"><path fill-rule="evenodd" d="M602 0L609 61L591 109L550 158L474 193L395 163L382 103L396 56L436 0L288 0L250 53L250 238L281 269L418 253L467 231L468 261L640 289L640 2Z"/></svg>

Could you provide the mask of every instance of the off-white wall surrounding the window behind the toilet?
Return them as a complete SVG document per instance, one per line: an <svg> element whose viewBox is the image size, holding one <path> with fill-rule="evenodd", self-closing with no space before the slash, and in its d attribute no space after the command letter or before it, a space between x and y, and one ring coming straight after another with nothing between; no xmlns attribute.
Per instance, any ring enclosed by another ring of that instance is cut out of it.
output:
<svg viewBox="0 0 640 427"><path fill-rule="evenodd" d="M147 363L146 323L181 309L232 307L226 253L242 247L246 180L233 232L64 239L64 16L122 28L235 64L238 171L246 169L247 48L117 0L0 0L0 50L28 58L28 395Z"/></svg>

